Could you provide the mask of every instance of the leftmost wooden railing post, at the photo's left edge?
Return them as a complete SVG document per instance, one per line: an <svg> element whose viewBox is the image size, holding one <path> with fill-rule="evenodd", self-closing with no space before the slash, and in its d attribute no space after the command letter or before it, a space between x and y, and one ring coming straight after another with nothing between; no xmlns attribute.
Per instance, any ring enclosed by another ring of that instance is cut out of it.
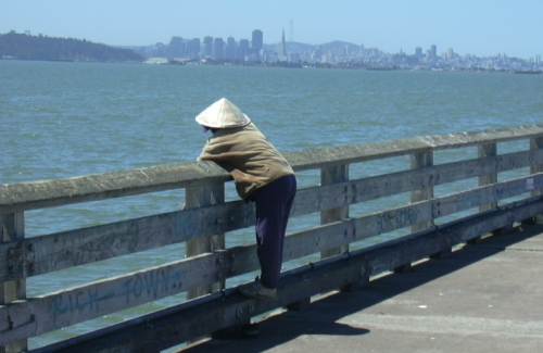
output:
<svg viewBox="0 0 543 353"><path fill-rule="evenodd" d="M24 213L14 212L10 214L0 214L0 242L12 242L25 237ZM14 253L14 256L24 256L23 252ZM8 256L5 263L0 263L0 266L14 266L13 259ZM14 270L20 279L0 282L0 305L9 304L15 300L26 298L26 279L24 259L16 259ZM0 346L1 353L25 352L27 350L27 340L18 340Z"/></svg>

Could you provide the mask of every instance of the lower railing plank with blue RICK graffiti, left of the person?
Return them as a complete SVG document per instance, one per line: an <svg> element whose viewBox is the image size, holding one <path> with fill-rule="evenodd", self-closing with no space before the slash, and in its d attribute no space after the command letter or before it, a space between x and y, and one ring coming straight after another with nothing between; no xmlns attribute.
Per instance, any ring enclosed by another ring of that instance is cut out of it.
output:
<svg viewBox="0 0 543 353"><path fill-rule="evenodd" d="M0 306L0 317L26 324L2 332L0 344L216 282L226 261L203 254Z"/></svg>

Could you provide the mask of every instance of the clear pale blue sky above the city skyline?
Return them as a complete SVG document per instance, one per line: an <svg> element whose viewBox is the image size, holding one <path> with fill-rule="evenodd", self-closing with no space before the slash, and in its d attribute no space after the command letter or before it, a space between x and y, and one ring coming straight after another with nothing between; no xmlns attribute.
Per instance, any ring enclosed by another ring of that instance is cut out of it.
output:
<svg viewBox="0 0 543 353"><path fill-rule="evenodd" d="M115 46L172 36L275 43L345 40L388 52L453 48L460 54L543 54L542 0L1 0L0 33L85 38ZM291 23L293 24L291 26ZM291 29L292 28L292 29Z"/></svg>

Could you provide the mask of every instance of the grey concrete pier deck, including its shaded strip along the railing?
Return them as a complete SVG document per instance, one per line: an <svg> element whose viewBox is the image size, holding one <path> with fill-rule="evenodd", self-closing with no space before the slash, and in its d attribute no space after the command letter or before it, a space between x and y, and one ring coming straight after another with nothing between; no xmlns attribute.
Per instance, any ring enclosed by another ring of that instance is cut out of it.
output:
<svg viewBox="0 0 543 353"><path fill-rule="evenodd" d="M197 352L543 352L543 226L491 237Z"/></svg>

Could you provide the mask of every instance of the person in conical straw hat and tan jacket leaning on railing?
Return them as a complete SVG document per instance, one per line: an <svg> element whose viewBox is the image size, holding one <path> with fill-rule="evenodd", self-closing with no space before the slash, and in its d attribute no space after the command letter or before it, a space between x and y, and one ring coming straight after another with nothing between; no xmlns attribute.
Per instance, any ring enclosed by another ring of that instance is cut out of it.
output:
<svg viewBox="0 0 543 353"><path fill-rule="evenodd" d="M222 98L195 121L213 136L199 161L213 161L228 171L243 200L256 205L256 244L261 278L240 288L250 298L276 298L282 244L296 179L292 167L241 110Z"/></svg>

